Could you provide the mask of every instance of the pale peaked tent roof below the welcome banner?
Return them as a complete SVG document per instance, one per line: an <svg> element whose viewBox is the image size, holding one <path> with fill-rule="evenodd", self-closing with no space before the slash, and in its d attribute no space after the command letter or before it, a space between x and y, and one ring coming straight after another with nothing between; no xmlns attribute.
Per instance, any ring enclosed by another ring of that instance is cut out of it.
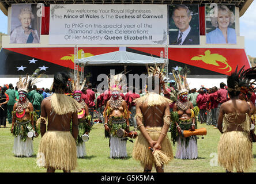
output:
<svg viewBox="0 0 256 184"><path fill-rule="evenodd" d="M97 64L161 64L164 63L164 59L159 57L152 57L141 55L133 52L126 51L115 51L104 53L101 55L85 57L83 59L78 59L78 63L88 65L97 65Z"/></svg>

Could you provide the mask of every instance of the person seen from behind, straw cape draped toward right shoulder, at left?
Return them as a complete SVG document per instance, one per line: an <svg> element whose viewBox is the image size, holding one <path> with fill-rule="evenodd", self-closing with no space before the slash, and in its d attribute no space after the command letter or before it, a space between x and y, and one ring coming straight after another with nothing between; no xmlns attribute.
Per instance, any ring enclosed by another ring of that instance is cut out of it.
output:
<svg viewBox="0 0 256 184"><path fill-rule="evenodd" d="M42 135L37 165L47 168L47 173L54 173L57 169L70 172L77 167L77 112L82 106L65 95L69 78L70 75L66 72L58 72L54 75L52 84L54 94L43 99L41 116L37 121ZM71 121L72 133L70 133Z"/></svg>

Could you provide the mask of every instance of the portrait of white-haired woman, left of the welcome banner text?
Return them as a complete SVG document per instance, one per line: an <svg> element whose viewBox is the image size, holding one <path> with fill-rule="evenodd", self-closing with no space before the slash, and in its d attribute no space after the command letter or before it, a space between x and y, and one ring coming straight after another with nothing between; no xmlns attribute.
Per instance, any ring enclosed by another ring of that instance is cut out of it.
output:
<svg viewBox="0 0 256 184"><path fill-rule="evenodd" d="M10 44L39 43L40 32L37 32L38 26L36 23L40 24L40 21L37 21L37 18L32 13L31 7L17 7L18 6L14 5L12 7L12 31L10 33ZM17 15L18 10L20 11ZM32 25L35 26L35 28L33 28Z"/></svg>

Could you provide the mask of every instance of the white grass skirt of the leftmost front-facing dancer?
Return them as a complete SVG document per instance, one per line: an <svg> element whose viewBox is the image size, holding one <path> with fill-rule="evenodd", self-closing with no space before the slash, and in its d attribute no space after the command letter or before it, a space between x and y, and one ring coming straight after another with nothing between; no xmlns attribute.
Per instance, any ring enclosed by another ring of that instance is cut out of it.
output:
<svg viewBox="0 0 256 184"><path fill-rule="evenodd" d="M32 156L33 155L33 140L28 138L23 141L21 135L14 136L13 154L15 156Z"/></svg>

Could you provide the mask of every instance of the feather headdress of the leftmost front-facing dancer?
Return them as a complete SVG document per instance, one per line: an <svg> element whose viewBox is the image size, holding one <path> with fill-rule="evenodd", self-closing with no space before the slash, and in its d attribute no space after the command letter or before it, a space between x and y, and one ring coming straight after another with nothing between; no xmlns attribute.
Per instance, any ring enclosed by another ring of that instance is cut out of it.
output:
<svg viewBox="0 0 256 184"><path fill-rule="evenodd" d="M21 77L19 77L18 82L16 83L18 91L25 91L26 93L32 91L32 86L35 85L35 83L39 82L39 78L42 75L39 75L39 71L40 69L37 68L30 78L28 74L25 76L23 80Z"/></svg>

